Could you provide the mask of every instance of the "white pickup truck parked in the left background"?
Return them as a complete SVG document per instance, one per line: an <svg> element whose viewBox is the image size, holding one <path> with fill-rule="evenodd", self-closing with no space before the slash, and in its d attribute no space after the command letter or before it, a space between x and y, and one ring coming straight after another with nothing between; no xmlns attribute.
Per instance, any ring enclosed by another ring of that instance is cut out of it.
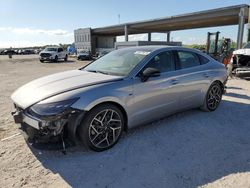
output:
<svg viewBox="0 0 250 188"><path fill-rule="evenodd" d="M59 59L64 61L68 60L68 53L61 47L47 47L39 53L40 62L54 61L58 62Z"/></svg>

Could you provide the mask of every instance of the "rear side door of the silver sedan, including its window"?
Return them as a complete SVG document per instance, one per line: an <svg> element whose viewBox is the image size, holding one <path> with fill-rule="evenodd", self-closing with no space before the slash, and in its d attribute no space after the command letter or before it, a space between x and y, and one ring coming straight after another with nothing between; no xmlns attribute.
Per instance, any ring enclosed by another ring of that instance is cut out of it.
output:
<svg viewBox="0 0 250 188"><path fill-rule="evenodd" d="M182 83L180 107L183 109L198 107L203 104L205 88L210 83L211 75L206 65L201 65L199 56L193 52L177 51L180 70L178 79Z"/></svg>

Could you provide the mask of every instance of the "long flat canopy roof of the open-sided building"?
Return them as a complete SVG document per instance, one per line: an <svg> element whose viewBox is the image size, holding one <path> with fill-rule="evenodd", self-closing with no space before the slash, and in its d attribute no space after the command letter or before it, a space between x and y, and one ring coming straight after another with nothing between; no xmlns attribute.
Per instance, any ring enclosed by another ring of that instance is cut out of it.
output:
<svg viewBox="0 0 250 188"><path fill-rule="evenodd" d="M239 13L241 8L245 9L245 22L247 22L249 5L244 4L159 19L95 28L92 29L92 34L110 36L124 35L125 25L128 27L129 34L168 32L204 27L236 25L239 22Z"/></svg>

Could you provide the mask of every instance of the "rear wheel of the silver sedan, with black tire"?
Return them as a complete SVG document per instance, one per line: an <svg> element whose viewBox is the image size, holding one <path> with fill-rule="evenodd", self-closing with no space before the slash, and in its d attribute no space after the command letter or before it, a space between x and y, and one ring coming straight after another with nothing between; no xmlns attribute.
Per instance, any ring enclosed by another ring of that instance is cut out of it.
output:
<svg viewBox="0 0 250 188"><path fill-rule="evenodd" d="M212 83L207 91L205 101L201 109L207 112L215 111L220 105L222 94L223 88L221 85L218 82Z"/></svg>

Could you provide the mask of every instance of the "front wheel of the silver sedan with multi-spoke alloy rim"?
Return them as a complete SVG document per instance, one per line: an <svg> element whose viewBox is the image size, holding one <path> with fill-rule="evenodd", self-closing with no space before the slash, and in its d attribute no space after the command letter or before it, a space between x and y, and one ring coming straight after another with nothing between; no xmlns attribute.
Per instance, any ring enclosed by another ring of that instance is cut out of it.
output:
<svg viewBox="0 0 250 188"><path fill-rule="evenodd" d="M103 104L90 110L78 128L79 137L87 149L104 151L113 147L124 130L124 117L119 108Z"/></svg>

